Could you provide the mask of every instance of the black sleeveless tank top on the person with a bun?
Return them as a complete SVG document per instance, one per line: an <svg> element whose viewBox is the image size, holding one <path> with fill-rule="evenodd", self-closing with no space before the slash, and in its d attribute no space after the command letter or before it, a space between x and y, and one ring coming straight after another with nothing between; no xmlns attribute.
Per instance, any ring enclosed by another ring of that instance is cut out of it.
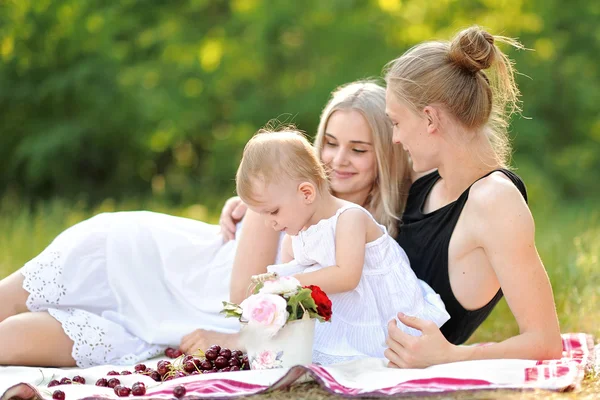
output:
<svg viewBox="0 0 600 400"><path fill-rule="evenodd" d="M478 180L496 171L503 172L527 201L525 184L511 171L497 169ZM448 249L452 232L454 232L454 227L469 198L472 184L455 202L429 214L423 214L421 211L425 200L439 179L439 173L434 171L417 179L412 184L396 241L406 251L417 277L427 282L444 301L446 310L450 314L450 320L441 327L442 333L449 342L461 344L492 312L494 306L502 298L502 290L498 290L498 293L485 306L471 311L463 308L454 297L448 274Z"/></svg>

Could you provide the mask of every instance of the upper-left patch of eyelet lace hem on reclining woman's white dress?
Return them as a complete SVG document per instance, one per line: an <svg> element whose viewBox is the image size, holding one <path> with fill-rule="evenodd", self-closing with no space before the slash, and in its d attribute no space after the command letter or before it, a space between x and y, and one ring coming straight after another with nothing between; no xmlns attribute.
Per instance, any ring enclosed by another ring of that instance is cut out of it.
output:
<svg viewBox="0 0 600 400"><path fill-rule="evenodd" d="M21 269L23 289L29 292L26 305L30 311L43 311L60 305L67 293L61 283L62 264L58 251L43 251Z"/></svg>

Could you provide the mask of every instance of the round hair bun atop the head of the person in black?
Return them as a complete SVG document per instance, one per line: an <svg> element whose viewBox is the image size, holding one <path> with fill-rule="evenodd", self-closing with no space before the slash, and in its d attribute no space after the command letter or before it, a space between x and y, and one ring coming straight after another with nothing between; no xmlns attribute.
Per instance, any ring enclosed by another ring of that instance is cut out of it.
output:
<svg viewBox="0 0 600 400"><path fill-rule="evenodd" d="M478 26L467 28L454 37L448 56L453 63L468 71L487 69L496 56L494 36Z"/></svg>

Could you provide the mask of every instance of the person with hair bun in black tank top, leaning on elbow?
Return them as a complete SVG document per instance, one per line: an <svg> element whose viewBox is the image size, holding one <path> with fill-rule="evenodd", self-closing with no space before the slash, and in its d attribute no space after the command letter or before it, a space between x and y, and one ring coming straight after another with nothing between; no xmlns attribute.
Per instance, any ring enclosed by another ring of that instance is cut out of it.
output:
<svg viewBox="0 0 600 400"><path fill-rule="evenodd" d="M408 151L415 171L397 241L451 315L441 330L399 315L423 335L407 335L390 323L391 366L561 355L552 288L535 247L525 186L506 169L506 128L510 113L519 109L519 92L497 41L519 46L471 27L449 43L415 46L387 67L393 140ZM490 67L488 77L483 70ZM519 335L490 346L456 346L502 295Z"/></svg>

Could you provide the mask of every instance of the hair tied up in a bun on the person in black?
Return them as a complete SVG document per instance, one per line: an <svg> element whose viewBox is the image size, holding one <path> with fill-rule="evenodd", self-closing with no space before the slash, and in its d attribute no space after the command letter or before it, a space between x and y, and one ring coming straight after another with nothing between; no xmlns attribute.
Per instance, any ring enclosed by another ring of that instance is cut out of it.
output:
<svg viewBox="0 0 600 400"><path fill-rule="evenodd" d="M493 36L478 26L459 32L451 42L421 43L385 67L388 88L415 112L441 104L463 126L486 133L496 161L507 167L511 146L508 125L520 112L512 61L496 46L523 46ZM484 69L492 68L489 75Z"/></svg>

